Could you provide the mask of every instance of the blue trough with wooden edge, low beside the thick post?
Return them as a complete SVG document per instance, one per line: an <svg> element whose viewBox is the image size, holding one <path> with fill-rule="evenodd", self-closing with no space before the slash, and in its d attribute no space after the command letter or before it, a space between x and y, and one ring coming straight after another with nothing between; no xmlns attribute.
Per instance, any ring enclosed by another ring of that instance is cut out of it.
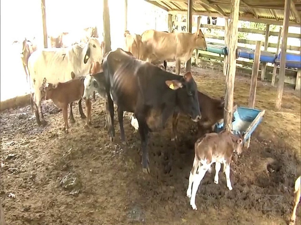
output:
<svg viewBox="0 0 301 225"><path fill-rule="evenodd" d="M237 107L233 113L235 119L232 122L232 129L234 134L242 134L245 143L255 131L257 126L261 123L265 110L258 110L246 107ZM224 122L216 123L214 131L219 133L224 128Z"/></svg>

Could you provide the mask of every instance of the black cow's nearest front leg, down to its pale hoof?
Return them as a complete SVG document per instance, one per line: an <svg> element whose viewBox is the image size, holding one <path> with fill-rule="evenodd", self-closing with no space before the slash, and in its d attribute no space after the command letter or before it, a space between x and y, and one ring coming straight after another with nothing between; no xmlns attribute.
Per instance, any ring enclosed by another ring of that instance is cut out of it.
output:
<svg viewBox="0 0 301 225"><path fill-rule="evenodd" d="M148 127L146 122L139 117L137 117L138 125L139 125L139 134L141 138L141 147L142 147L142 171L144 173L150 173L149 168L149 158L148 158L148 150L147 150L147 135L148 135Z"/></svg>

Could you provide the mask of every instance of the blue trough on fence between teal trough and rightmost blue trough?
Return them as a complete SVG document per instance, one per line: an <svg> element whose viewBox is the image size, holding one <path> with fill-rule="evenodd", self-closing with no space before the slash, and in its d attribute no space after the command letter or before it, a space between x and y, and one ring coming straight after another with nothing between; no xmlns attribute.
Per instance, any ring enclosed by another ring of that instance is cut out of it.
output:
<svg viewBox="0 0 301 225"><path fill-rule="evenodd" d="M236 55L237 55L237 57L254 59L255 50L238 47L237 51L236 51ZM267 51L260 52L260 61L261 62L275 63L276 58L277 58L277 55L272 52L267 52Z"/></svg>

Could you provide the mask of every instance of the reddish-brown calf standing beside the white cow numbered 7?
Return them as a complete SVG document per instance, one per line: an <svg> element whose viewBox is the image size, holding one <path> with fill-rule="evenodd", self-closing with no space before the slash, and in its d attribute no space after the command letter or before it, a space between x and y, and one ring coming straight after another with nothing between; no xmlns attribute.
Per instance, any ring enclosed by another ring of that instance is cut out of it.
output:
<svg viewBox="0 0 301 225"><path fill-rule="evenodd" d="M64 131L68 133L68 104L78 101L82 98L84 93L84 79L85 77L75 77L74 79L57 84L47 83L44 79L43 85L45 87L45 100L51 99L53 103L63 111ZM91 124L91 102L85 99L87 107L86 125Z"/></svg>

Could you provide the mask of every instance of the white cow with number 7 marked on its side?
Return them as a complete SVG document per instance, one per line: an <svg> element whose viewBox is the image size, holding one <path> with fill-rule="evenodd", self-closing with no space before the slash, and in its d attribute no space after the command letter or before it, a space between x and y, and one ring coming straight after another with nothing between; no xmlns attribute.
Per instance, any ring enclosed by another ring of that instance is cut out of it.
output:
<svg viewBox="0 0 301 225"><path fill-rule="evenodd" d="M66 82L75 76L85 76L93 61L103 59L103 45L97 38L89 38L87 44L75 44L68 48L43 49L33 52L28 60L29 76L34 89L33 101L36 121L45 125L41 110L41 90L43 79L56 84ZM40 117L42 120L40 120Z"/></svg>

